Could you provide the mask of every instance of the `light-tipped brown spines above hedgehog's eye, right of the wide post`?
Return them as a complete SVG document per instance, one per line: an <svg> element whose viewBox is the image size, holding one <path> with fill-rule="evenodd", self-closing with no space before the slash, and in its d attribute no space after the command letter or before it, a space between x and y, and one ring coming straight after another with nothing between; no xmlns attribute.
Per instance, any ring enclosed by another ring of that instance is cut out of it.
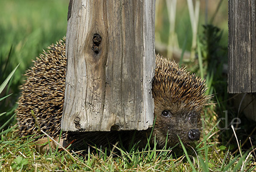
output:
<svg viewBox="0 0 256 172"><path fill-rule="evenodd" d="M205 106L208 97L204 80L161 56L157 56L156 65L152 90L155 104L172 101L194 110Z"/></svg>

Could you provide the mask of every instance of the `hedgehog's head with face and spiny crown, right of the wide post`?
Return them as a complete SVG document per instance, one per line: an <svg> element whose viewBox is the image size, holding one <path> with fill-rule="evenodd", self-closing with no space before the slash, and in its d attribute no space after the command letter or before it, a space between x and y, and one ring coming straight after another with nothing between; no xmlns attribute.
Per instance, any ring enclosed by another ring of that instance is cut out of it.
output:
<svg viewBox="0 0 256 172"><path fill-rule="evenodd" d="M201 129L201 113L208 99L205 83L163 57L157 56L156 64L152 84L156 117L153 135L159 146L165 144L167 134L169 146L179 143L177 135L183 144L189 144L189 130Z"/></svg>

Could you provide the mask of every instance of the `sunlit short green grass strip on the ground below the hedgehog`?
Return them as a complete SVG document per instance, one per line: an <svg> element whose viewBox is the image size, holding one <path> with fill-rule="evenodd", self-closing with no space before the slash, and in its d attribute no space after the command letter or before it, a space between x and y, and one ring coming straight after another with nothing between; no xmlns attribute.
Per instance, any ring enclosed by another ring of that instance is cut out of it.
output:
<svg viewBox="0 0 256 172"><path fill-rule="evenodd" d="M243 156L233 156L229 149L220 149L212 134L218 128L213 126L204 135L195 149L183 146L184 155L175 156L170 148L157 150L146 147L131 150L114 146L116 152L107 153L105 148L89 147L78 152L51 150L43 155L35 151L35 138L19 138L17 132L1 133L0 166L1 171L50 171L50 170L99 170L99 171L253 171L252 151ZM190 153L188 153L188 151ZM192 153L191 153L192 152Z"/></svg>

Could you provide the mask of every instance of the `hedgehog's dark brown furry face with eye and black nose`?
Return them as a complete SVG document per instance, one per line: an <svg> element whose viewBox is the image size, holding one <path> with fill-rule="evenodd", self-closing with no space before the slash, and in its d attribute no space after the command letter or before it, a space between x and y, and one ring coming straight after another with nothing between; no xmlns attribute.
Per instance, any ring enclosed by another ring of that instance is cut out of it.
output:
<svg viewBox="0 0 256 172"><path fill-rule="evenodd" d="M170 147L180 143L178 136L184 145L198 141L201 129L201 112L191 110L188 105L170 103L155 104L154 116L156 123L153 134L159 146L167 144ZM168 136L167 136L168 135Z"/></svg>

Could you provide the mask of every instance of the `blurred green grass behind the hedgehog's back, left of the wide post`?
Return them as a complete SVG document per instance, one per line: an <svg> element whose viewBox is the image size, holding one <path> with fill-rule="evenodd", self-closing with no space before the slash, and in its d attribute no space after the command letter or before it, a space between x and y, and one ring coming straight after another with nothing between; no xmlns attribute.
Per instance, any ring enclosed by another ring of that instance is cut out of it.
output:
<svg viewBox="0 0 256 172"><path fill-rule="evenodd" d="M13 93L0 102L0 114L16 108L18 87L32 59L66 34L67 8L68 0L0 0L0 83L20 63L0 95Z"/></svg>

